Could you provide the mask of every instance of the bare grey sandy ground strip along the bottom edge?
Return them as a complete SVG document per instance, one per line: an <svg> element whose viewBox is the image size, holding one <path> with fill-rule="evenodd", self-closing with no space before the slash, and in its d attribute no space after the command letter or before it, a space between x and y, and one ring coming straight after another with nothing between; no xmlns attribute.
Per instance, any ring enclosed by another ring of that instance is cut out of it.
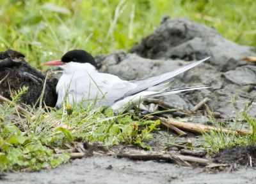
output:
<svg viewBox="0 0 256 184"><path fill-rule="evenodd" d="M232 173L208 174L202 167L102 156L76 159L51 171L7 173L0 183L256 183L256 170L241 168Z"/></svg>

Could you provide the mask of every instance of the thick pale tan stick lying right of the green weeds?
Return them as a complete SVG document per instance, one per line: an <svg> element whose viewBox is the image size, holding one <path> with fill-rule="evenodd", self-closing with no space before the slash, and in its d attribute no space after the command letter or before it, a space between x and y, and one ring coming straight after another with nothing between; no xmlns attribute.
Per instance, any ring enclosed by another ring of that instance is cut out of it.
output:
<svg viewBox="0 0 256 184"><path fill-rule="evenodd" d="M246 135L252 134L252 131L247 131L247 130L232 131L232 130L228 130L228 129L219 129L219 128L208 126L208 125L193 124L191 122L186 122L186 123L180 122L173 118L168 118L168 119L159 118L159 119L163 122L166 122L166 124L168 124L168 125L173 125L179 129L183 129L183 130L190 131L190 132L196 132L196 133L200 133L200 134L209 132L209 131L221 131L225 134L228 134L231 132L236 132L236 134L239 134L241 136L246 136Z"/></svg>

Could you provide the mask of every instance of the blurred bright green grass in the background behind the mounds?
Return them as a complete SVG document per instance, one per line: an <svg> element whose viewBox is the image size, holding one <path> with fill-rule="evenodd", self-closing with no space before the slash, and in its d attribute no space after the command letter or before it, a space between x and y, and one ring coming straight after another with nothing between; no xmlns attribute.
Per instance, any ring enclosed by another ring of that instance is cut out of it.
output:
<svg viewBox="0 0 256 184"><path fill-rule="evenodd" d="M256 45L255 0L1 0L0 48L12 48L41 68L80 48L93 55L129 50L164 15L215 27L225 38Z"/></svg>

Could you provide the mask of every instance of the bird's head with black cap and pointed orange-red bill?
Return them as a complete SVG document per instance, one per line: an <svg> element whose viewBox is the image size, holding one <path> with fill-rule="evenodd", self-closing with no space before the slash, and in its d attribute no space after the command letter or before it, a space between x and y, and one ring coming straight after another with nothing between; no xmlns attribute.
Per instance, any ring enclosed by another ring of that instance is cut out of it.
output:
<svg viewBox="0 0 256 184"><path fill-rule="evenodd" d="M44 65L65 66L66 64L71 64L71 63L76 63L76 64L88 63L97 68L97 64L93 56L90 53L86 52L85 50L70 50L61 57L61 60L52 60L49 62L45 62Z"/></svg>

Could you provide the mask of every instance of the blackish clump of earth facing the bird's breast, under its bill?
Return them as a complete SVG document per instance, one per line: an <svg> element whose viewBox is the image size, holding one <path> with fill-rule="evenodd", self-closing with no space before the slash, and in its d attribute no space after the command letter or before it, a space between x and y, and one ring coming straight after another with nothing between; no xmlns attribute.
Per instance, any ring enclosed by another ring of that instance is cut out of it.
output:
<svg viewBox="0 0 256 184"><path fill-rule="evenodd" d="M22 53L6 50L5 52L0 52L0 81L1 96L10 99L10 93L13 90L28 87L28 92L21 97L20 103L38 105L38 99L44 88L45 76L40 71L31 67L24 60ZM52 76L49 76L46 81L44 102L47 106L53 107L56 104L56 83L57 80Z"/></svg>

